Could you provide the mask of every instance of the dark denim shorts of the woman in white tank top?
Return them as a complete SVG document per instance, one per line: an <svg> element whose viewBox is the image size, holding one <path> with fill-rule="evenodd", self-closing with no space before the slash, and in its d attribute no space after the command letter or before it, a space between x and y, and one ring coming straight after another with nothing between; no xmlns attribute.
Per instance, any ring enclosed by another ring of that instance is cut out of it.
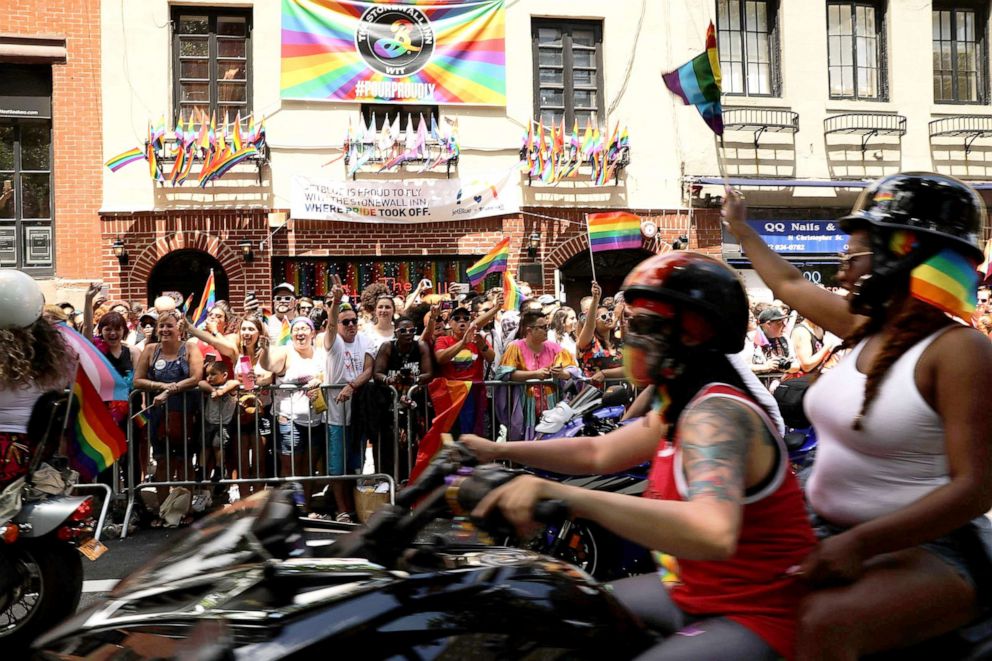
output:
<svg viewBox="0 0 992 661"><path fill-rule="evenodd" d="M813 513L810 518L817 538L825 539L848 530ZM985 516L957 530L920 544L919 548L943 560L975 590L978 602L992 605L992 524Z"/></svg>

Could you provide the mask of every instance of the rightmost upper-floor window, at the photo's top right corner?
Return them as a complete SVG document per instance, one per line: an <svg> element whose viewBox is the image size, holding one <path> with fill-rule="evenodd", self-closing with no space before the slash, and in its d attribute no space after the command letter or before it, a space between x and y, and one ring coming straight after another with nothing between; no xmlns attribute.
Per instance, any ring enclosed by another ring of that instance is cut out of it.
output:
<svg viewBox="0 0 992 661"><path fill-rule="evenodd" d="M934 101L985 103L984 22L977 6L934 7Z"/></svg>

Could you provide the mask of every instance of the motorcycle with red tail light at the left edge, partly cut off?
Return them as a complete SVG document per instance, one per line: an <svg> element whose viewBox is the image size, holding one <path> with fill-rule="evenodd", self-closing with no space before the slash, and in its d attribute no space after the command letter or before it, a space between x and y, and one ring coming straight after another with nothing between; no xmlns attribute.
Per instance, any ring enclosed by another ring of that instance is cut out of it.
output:
<svg viewBox="0 0 992 661"><path fill-rule="evenodd" d="M59 436L52 431L61 432L65 406L62 394L38 402L28 437L41 443L28 473L0 492L0 645L9 652L25 652L76 611L83 588L80 548L101 553L93 535L93 497L53 494L64 492L64 484L60 489L58 471L41 464L51 459Z"/></svg>

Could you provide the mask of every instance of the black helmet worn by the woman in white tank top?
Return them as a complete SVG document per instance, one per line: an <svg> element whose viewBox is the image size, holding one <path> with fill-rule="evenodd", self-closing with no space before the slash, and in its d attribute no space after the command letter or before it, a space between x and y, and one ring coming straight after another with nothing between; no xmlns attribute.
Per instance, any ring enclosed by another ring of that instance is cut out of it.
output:
<svg viewBox="0 0 992 661"><path fill-rule="evenodd" d="M858 283L852 310L866 315L883 310L906 285L910 272L944 248L981 263L979 237L985 217L978 193L954 177L904 172L874 182L839 221L848 234L865 229L871 237L871 273ZM891 248L897 230L908 230L916 239L907 253L896 254Z"/></svg>

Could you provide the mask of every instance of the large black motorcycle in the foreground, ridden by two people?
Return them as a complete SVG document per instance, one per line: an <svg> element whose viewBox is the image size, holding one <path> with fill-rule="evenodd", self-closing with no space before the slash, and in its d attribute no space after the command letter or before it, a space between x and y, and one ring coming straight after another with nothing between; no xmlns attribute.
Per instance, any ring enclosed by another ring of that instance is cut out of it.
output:
<svg viewBox="0 0 992 661"><path fill-rule="evenodd" d="M623 659L654 644L610 590L574 566L425 534L437 517L470 512L519 474L477 466L448 446L395 505L333 542L306 537L291 489L259 492L200 520L35 649L49 661L264 661L342 649L367 659ZM561 502L535 510L546 522L562 516ZM498 512L474 524L489 536L508 533ZM992 658L988 636L970 647L949 637L931 645L941 653L929 658Z"/></svg>

